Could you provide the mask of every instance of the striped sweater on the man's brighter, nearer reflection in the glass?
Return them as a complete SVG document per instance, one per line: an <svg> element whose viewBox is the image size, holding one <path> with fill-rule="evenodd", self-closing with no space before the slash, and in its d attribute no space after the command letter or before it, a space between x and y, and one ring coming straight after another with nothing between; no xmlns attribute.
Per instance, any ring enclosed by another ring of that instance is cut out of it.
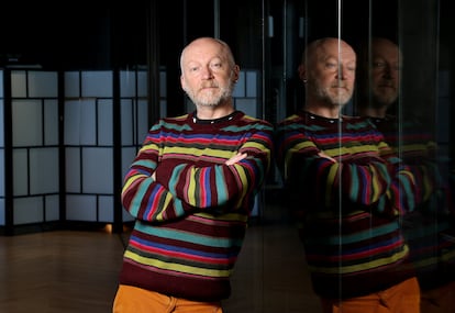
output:
<svg viewBox="0 0 455 313"><path fill-rule="evenodd" d="M409 253L400 215L419 192L368 120L302 112L277 125L276 149L318 294L368 294L413 275L398 270Z"/></svg>

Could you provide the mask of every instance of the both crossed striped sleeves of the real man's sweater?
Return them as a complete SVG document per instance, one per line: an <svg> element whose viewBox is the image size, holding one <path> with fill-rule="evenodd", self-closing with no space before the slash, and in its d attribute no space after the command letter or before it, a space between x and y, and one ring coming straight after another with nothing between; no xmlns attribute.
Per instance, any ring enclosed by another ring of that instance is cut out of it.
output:
<svg viewBox="0 0 455 313"><path fill-rule="evenodd" d="M255 127L235 150L214 161L163 157L166 138L152 128L125 176L122 203L134 217L149 222L179 219L191 212L226 212L253 208L254 195L270 166L271 126ZM237 152L247 157L224 164Z"/></svg>

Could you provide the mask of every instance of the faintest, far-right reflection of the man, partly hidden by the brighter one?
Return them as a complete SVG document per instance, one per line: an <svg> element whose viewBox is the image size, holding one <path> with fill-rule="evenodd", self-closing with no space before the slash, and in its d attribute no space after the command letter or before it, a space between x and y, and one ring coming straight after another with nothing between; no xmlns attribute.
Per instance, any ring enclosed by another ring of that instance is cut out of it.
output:
<svg viewBox="0 0 455 313"><path fill-rule="evenodd" d="M370 118L387 143L424 181L423 203L403 220L410 261L422 291L421 312L454 312L455 283L447 265L454 261L455 243L446 236L451 232L450 191L441 182L436 145L419 121L390 113L399 97L402 54L398 45L375 37L360 47L358 56L358 114Z"/></svg>

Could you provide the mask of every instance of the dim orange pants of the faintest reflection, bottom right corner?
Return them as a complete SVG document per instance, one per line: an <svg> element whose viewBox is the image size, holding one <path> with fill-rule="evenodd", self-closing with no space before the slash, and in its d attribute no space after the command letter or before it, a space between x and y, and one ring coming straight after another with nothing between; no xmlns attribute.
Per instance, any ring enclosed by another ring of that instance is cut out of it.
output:
<svg viewBox="0 0 455 313"><path fill-rule="evenodd" d="M439 288L422 291L422 313L454 313L455 312L455 281Z"/></svg>

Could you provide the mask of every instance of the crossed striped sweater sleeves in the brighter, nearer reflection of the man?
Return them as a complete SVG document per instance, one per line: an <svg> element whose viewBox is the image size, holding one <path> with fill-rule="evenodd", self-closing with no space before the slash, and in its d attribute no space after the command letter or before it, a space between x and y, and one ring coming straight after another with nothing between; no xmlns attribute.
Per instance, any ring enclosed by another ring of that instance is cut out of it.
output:
<svg viewBox="0 0 455 313"><path fill-rule="evenodd" d="M397 215L415 205L414 178L384 142L322 150L311 136L288 127L278 132L278 144L284 152L278 157L285 182L291 192L307 197L307 208L354 211L368 206Z"/></svg>

